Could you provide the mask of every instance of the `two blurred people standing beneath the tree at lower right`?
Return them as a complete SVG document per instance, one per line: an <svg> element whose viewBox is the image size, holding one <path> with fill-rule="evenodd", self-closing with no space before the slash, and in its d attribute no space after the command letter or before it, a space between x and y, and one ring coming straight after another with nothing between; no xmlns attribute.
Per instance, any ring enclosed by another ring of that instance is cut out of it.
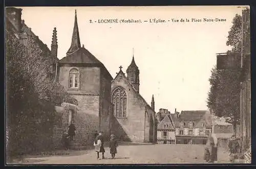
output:
<svg viewBox="0 0 256 169"><path fill-rule="evenodd" d="M228 142L229 149L229 160L231 163L234 162L234 159L238 159L238 154L240 153L239 142L234 135L231 136ZM211 133L207 139L204 160L209 163L214 163L217 161L217 152L218 152L218 138L214 133Z"/></svg>

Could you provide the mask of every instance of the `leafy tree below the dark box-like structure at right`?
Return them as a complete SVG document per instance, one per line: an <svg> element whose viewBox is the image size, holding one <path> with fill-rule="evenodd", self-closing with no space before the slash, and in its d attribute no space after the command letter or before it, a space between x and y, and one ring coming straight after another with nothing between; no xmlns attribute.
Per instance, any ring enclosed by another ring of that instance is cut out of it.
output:
<svg viewBox="0 0 256 169"><path fill-rule="evenodd" d="M236 134L240 120L240 83L239 70L211 70L210 91L207 107L219 117L225 117L226 122L233 125Z"/></svg>

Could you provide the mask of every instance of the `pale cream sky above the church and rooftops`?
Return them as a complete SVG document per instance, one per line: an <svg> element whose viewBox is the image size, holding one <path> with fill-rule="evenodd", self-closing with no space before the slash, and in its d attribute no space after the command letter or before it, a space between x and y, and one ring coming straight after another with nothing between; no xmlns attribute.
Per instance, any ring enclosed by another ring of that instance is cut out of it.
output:
<svg viewBox="0 0 256 169"><path fill-rule="evenodd" d="M113 78L120 65L126 73L134 55L140 70L140 94L148 104L154 94L156 112L164 108L171 113L175 108L207 110L208 79L216 54L230 50L226 46L228 31L233 17L242 13L236 6L17 8L23 9L26 25L49 48L56 27L59 59L69 50L76 9L81 46L84 44ZM193 18L202 21L191 22ZM204 22L203 18L226 21ZM141 19L142 23L98 23L98 19ZM151 23L150 19L166 22Z"/></svg>

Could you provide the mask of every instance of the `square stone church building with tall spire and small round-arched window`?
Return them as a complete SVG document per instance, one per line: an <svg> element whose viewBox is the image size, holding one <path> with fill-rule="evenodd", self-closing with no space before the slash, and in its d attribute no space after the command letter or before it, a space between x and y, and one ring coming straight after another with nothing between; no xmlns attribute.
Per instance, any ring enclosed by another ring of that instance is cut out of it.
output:
<svg viewBox="0 0 256 169"><path fill-rule="evenodd" d="M56 32L52 47L57 48ZM57 51L57 49L56 49ZM66 57L57 63L57 81L77 100L78 111L74 114L78 143L92 144L93 134L101 130L108 137L111 128L111 81L105 66L80 44L77 15L70 48ZM83 145L84 146L84 145Z"/></svg>

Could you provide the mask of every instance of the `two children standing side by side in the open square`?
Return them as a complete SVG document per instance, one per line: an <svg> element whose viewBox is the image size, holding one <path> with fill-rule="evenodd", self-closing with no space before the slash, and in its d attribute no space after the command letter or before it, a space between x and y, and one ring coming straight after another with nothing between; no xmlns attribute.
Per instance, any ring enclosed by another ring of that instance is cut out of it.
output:
<svg viewBox="0 0 256 169"><path fill-rule="evenodd" d="M105 149L104 149L104 140L103 140L103 136L102 136L102 132L98 132L95 134L95 139L93 142L93 146L95 147L95 151L97 152L97 159L99 158L99 153L102 153L102 159L105 159L104 157L104 153L105 153ZM112 159L115 158L115 154L117 153L117 140L115 139L115 135L112 134L110 136L110 154L112 156Z"/></svg>

